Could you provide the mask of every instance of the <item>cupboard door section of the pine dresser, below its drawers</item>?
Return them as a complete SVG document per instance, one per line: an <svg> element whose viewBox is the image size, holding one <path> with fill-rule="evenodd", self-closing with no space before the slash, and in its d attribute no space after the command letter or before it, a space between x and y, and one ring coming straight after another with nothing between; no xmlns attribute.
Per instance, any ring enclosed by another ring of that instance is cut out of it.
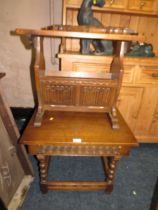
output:
<svg viewBox="0 0 158 210"><path fill-rule="evenodd" d="M122 87L118 108L139 142L158 141L158 116L152 87Z"/></svg>

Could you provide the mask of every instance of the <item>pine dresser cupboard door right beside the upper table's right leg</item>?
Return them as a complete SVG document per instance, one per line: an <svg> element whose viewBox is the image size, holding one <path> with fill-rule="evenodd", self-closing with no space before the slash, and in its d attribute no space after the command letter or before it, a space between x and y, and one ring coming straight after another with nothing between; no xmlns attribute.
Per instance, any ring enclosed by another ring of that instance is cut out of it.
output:
<svg viewBox="0 0 158 210"><path fill-rule="evenodd" d="M143 88L122 87L117 103L119 111L134 133L141 107L142 97Z"/></svg>

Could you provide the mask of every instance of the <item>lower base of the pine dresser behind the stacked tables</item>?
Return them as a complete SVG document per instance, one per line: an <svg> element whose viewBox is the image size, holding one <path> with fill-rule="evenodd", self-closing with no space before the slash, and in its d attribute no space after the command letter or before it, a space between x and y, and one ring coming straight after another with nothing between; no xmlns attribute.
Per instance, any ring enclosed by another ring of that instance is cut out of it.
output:
<svg viewBox="0 0 158 210"><path fill-rule="evenodd" d="M109 71L112 56L59 54L64 71ZM139 142L158 142L158 59L124 58L118 109Z"/></svg>

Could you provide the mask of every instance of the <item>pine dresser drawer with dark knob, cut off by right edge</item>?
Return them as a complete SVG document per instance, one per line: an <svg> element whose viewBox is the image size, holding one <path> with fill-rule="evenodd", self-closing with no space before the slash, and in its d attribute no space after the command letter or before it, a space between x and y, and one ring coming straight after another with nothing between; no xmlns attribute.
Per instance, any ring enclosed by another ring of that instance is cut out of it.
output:
<svg viewBox="0 0 158 210"><path fill-rule="evenodd" d="M158 66L143 66L136 76L136 83L158 84Z"/></svg>

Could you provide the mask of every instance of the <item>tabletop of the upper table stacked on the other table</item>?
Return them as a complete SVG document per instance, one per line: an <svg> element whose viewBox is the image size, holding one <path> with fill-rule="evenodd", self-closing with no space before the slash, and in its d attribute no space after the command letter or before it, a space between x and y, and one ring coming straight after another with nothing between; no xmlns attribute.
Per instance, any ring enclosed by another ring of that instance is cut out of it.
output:
<svg viewBox="0 0 158 210"><path fill-rule="evenodd" d="M90 39L106 39L116 41L145 41L144 35L127 34L127 33L111 33L106 28L98 28L92 26L67 26L54 25L45 29L26 29L17 28L17 35L33 35L43 37L67 37L67 38L90 38Z"/></svg>

